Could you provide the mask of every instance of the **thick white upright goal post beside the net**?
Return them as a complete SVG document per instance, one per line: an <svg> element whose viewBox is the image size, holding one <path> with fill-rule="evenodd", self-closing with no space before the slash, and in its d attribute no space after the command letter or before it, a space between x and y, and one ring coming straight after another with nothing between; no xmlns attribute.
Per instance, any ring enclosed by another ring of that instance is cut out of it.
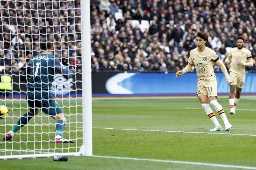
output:
<svg viewBox="0 0 256 170"><path fill-rule="evenodd" d="M82 0L81 0L82 2ZM83 30L83 146L82 155L93 155L93 123L92 123L92 92L91 92L91 23L90 0L82 2L82 30Z"/></svg>

